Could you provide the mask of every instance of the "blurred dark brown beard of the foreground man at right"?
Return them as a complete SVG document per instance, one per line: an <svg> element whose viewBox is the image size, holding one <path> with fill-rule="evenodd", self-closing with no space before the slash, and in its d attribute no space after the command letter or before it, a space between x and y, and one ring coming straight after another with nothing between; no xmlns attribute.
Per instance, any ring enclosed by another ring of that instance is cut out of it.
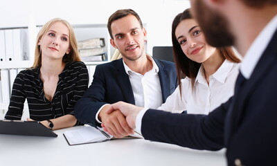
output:
<svg viewBox="0 0 277 166"><path fill-rule="evenodd" d="M211 10L203 2L195 0L193 16L202 28L206 41L214 47L233 46L234 37L229 32L228 21L219 12Z"/></svg>

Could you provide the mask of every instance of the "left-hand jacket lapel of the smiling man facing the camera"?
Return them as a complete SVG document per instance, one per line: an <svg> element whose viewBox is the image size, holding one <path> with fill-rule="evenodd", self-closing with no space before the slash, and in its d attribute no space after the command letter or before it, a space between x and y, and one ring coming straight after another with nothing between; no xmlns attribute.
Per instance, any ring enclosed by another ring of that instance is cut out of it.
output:
<svg viewBox="0 0 277 166"><path fill-rule="evenodd" d="M131 83L129 81L129 75L127 75L125 68L123 66L123 59L118 59L115 62L115 66L117 69L117 81L121 91L123 92L123 95L125 96L126 101L130 104L135 104L134 93L132 90Z"/></svg>

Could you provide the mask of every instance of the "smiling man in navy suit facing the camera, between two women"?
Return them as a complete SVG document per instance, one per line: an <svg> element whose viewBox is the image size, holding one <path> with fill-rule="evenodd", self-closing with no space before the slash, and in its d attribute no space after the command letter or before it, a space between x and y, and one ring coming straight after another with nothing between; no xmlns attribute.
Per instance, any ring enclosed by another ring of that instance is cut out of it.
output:
<svg viewBox="0 0 277 166"><path fill-rule="evenodd" d="M111 45L122 59L96 66L93 82L75 104L75 117L100 125L118 138L132 133L120 111L105 113L109 104L124 101L157 109L177 87L175 64L145 53L146 31L134 10L118 10L109 17Z"/></svg>

